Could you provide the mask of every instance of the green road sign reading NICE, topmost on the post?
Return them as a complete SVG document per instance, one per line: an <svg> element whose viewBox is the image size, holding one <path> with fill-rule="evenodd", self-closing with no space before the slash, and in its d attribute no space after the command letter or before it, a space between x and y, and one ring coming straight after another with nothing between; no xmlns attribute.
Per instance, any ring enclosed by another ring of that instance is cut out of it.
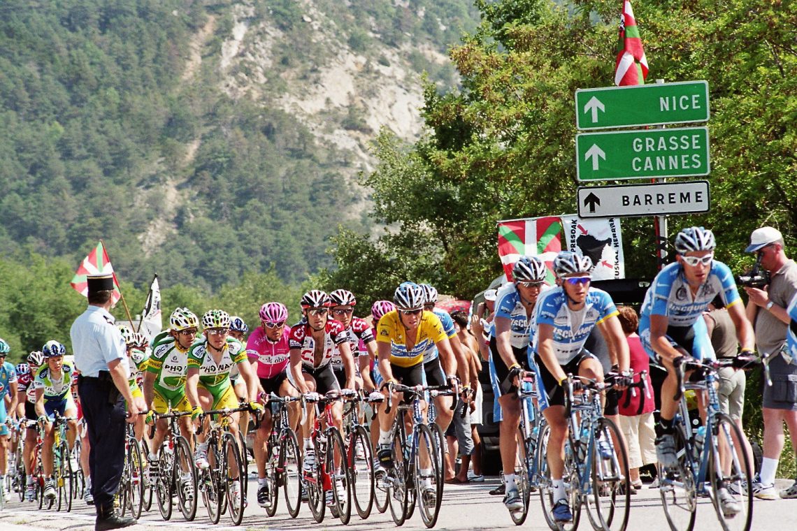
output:
<svg viewBox="0 0 797 531"><path fill-rule="evenodd" d="M706 81L575 91L575 127L579 129L705 122L708 119L709 84Z"/></svg>

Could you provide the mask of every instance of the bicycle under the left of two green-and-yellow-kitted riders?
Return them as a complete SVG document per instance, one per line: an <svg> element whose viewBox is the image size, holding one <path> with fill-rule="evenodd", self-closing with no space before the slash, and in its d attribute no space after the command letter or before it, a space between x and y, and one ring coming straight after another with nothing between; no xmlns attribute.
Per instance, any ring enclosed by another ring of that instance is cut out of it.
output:
<svg viewBox="0 0 797 531"><path fill-rule="evenodd" d="M158 459L149 463L150 474L155 476L155 499L163 520L169 520L173 510L173 498L177 495L177 505L186 521L194 520L197 513L197 469L194 455L188 440L179 435L178 419L190 415L190 412L172 411L155 413L155 419L167 419L169 429L158 449ZM154 468L153 468L154 467Z"/></svg>

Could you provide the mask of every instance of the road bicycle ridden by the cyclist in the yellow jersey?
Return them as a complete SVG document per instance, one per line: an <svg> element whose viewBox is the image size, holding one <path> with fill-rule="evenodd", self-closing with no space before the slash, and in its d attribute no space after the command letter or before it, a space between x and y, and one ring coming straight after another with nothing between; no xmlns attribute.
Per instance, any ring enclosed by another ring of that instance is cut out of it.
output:
<svg viewBox="0 0 797 531"><path fill-rule="evenodd" d="M430 398L437 396L438 391L450 391L448 385L406 385L390 382L388 384L391 398L387 402L386 412L392 408L392 393L403 392L405 398L398 404L391 433L393 434L393 463L387 470L385 483L387 499L391 508L391 516L396 525L402 525L412 516L416 501L423 524L432 528L438 521L443 494L442 461L438 456L435 436L425 424L422 412L424 392ZM409 400L409 404L407 404ZM406 431L406 414L412 412L411 430Z"/></svg>

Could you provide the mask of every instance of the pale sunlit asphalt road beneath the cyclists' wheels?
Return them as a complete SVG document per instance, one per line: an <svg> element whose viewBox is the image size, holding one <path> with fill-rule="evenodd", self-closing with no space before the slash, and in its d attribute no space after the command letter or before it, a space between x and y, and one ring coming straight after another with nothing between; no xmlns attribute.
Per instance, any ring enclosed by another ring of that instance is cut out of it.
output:
<svg viewBox="0 0 797 531"><path fill-rule="evenodd" d="M514 529L507 511L501 503L500 496L490 496L488 491L496 486L498 480L488 479L484 483L473 483L469 485L446 485L442 510L438 525L435 529ZM779 481L779 488L785 488L791 482ZM235 528L230 525L227 515L222 516L217 529L329 529L340 527L340 522L336 519L327 517L319 525L312 519L310 511L306 505L302 506L299 517L293 520L289 517L285 506L281 505L277 510L277 515L269 518L264 511L257 506L254 499L256 482L252 480L249 484L249 507L246 510L244 521L241 527ZM37 529L47 529L53 531L89 531L94 529L94 510L93 507L86 506L82 501L76 502L72 513L57 513L55 511L38 511L36 506L26 502L18 502L17 499L6 505L6 509L0 512L0 529L2 531L30 531ZM639 494L631 497L632 509L630 511L629 531L654 531L666 528L666 521L658 490L645 488ZM532 497L532 506L527 521L522 526L523 529L533 529L546 531L548 526L542 519L539 497ZM194 522L183 521L183 518L176 513L171 521L163 521L157 511L157 506L153 506L150 513L142 515L139 525L132 527L133 531L149 531L154 529L206 529L210 523L206 519L204 507L200 506L197 511L197 518ZM360 520L356 514L352 515L349 529L394 529L395 524L391 520L390 511L379 514L373 513L367 520ZM407 521L402 529L426 529L416 511L412 519ZM579 529L588 531L591 529L589 521L583 517ZM709 500L701 499L697 510L697 531L709 531L720 529L717 522L713 506ZM797 499L777 500L768 502L756 500L753 510L752 529L760 531L790 531L797 529Z"/></svg>

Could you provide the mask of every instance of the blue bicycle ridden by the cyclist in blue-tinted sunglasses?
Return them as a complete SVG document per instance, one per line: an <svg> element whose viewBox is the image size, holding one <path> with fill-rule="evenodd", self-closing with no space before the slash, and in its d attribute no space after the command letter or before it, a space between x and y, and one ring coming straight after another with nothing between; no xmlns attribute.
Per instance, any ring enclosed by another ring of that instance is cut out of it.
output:
<svg viewBox="0 0 797 531"><path fill-rule="evenodd" d="M596 531L624 531L628 525L628 455L619 428L603 416L601 400L601 393L614 387L617 381L618 378L611 375L604 382L567 375L565 412L568 434L563 479L573 520L556 522L552 485L545 485L540 490L545 521L555 531L577 529L582 506L587 506L587 517ZM583 392L575 393L579 388ZM547 466L544 472L548 474Z"/></svg>

